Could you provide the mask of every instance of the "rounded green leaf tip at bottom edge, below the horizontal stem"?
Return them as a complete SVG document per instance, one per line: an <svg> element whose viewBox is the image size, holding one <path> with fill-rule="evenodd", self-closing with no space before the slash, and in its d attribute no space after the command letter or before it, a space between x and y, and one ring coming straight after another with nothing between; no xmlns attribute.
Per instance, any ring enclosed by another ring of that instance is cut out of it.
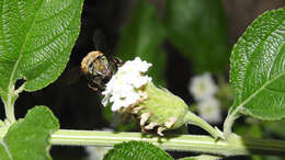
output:
<svg viewBox="0 0 285 160"><path fill-rule="evenodd" d="M128 141L114 146L104 156L104 160L134 159L134 160L173 160L164 150L145 141Z"/></svg>

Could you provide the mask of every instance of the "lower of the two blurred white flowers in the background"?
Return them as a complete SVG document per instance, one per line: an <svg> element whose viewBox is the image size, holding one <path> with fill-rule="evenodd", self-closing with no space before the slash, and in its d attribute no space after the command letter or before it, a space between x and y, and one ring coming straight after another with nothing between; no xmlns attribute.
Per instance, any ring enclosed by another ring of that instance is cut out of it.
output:
<svg viewBox="0 0 285 160"><path fill-rule="evenodd" d="M214 98L208 98L198 102L198 114L208 123L219 123L221 121L219 101Z"/></svg>

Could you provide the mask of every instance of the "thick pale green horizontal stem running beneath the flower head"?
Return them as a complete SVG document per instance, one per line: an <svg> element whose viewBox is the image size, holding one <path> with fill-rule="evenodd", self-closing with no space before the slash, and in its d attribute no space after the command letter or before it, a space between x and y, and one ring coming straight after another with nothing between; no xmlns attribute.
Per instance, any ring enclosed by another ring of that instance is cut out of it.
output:
<svg viewBox="0 0 285 160"><path fill-rule="evenodd" d="M0 138L5 129L0 128ZM176 135L172 137L150 137L140 133L112 133L95 130L59 129L52 135L53 145L69 146L105 146L129 140L142 140L167 150L194 151L219 156L238 155L284 155L285 140L264 140L242 138L231 134L228 140L215 140L209 136Z"/></svg>

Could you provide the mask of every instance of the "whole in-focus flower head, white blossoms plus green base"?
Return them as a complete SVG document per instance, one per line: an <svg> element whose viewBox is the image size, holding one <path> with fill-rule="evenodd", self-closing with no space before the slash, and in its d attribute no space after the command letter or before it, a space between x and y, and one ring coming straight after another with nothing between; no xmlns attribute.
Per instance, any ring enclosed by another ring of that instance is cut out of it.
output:
<svg viewBox="0 0 285 160"><path fill-rule="evenodd" d="M112 104L112 111L129 113L140 118L142 130L162 132L184 124L187 105L167 89L157 88L145 72L151 64L135 58L118 68L102 92L102 103Z"/></svg>

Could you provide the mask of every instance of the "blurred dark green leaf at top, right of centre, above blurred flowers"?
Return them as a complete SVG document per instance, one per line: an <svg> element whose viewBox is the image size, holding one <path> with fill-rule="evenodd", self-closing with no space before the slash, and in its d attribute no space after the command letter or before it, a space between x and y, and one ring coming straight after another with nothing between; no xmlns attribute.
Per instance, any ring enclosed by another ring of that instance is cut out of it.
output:
<svg viewBox="0 0 285 160"><path fill-rule="evenodd" d="M228 27L221 1L167 0L169 41L196 72L221 72L228 64Z"/></svg>

